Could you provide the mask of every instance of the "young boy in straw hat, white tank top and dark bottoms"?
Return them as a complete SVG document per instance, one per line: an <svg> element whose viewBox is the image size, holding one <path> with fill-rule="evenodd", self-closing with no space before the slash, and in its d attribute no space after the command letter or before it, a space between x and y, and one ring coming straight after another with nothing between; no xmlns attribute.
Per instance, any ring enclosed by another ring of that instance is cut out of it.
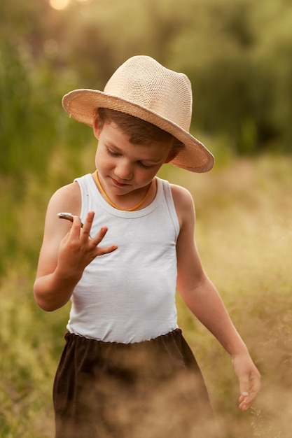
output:
<svg viewBox="0 0 292 438"><path fill-rule="evenodd" d="M53 391L56 438L213 437L207 390L176 323L176 287L230 353L240 409L260 376L202 268L190 193L156 176L167 162L196 172L214 164L188 132L190 81L135 56L104 92L74 90L63 106L93 128L98 148L97 170L50 199L34 285L46 311L72 302Z"/></svg>

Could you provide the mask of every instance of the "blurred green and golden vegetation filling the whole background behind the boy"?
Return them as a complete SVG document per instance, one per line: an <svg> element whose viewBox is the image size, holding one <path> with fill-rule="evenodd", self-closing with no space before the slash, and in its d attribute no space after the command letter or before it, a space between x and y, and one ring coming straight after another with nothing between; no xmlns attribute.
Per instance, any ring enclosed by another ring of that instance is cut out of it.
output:
<svg viewBox="0 0 292 438"><path fill-rule="evenodd" d="M207 175L161 176L193 193L204 266L263 375L256 405L239 412L230 358L178 297L224 438L291 436L291 20L291 0L0 3L1 438L53 437L69 307L41 311L32 285L48 200L95 155L62 95L104 87L137 54L188 74L192 132L216 155Z"/></svg>

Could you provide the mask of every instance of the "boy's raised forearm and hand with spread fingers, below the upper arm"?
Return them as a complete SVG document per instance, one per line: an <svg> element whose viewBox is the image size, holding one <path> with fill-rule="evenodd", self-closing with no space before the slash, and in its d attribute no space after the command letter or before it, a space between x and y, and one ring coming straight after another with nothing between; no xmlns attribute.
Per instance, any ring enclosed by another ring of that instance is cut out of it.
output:
<svg viewBox="0 0 292 438"><path fill-rule="evenodd" d="M88 213L83 227L78 216L74 216L71 227L57 227L48 220L43 246L39 257L39 266L34 283L34 297L41 309L54 311L66 304L81 279L85 267L98 255L111 253L118 247L99 246L107 232L102 227L97 235L90 239L90 230L95 216ZM55 218L55 213L48 215Z"/></svg>

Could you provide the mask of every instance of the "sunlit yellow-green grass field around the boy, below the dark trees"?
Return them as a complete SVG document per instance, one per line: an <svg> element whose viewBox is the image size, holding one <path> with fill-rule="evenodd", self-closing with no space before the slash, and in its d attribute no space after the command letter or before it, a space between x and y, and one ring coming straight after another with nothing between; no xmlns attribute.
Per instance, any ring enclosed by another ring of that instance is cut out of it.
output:
<svg viewBox="0 0 292 438"><path fill-rule="evenodd" d="M230 160L206 175L169 166L161 174L192 192L202 262L262 374L260 397L242 413L229 356L178 297L179 324L204 374L224 438L291 437L291 168L291 159L260 157ZM54 436L51 392L69 311L66 306L45 313L34 303L49 195L34 181L27 190L18 204L20 246L4 262L0 285L0 438Z"/></svg>

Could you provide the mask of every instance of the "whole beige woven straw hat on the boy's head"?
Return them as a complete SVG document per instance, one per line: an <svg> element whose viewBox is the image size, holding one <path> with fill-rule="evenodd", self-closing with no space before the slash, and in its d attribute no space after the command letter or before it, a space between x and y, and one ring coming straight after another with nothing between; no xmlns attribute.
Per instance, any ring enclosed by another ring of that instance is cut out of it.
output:
<svg viewBox="0 0 292 438"><path fill-rule="evenodd" d="M62 105L69 115L93 125L97 108L110 108L134 115L164 129L179 139L184 148L172 164L193 172L207 172L213 155L189 133L192 89L183 73L166 69L148 56L127 59L99 90L74 90L65 94Z"/></svg>

